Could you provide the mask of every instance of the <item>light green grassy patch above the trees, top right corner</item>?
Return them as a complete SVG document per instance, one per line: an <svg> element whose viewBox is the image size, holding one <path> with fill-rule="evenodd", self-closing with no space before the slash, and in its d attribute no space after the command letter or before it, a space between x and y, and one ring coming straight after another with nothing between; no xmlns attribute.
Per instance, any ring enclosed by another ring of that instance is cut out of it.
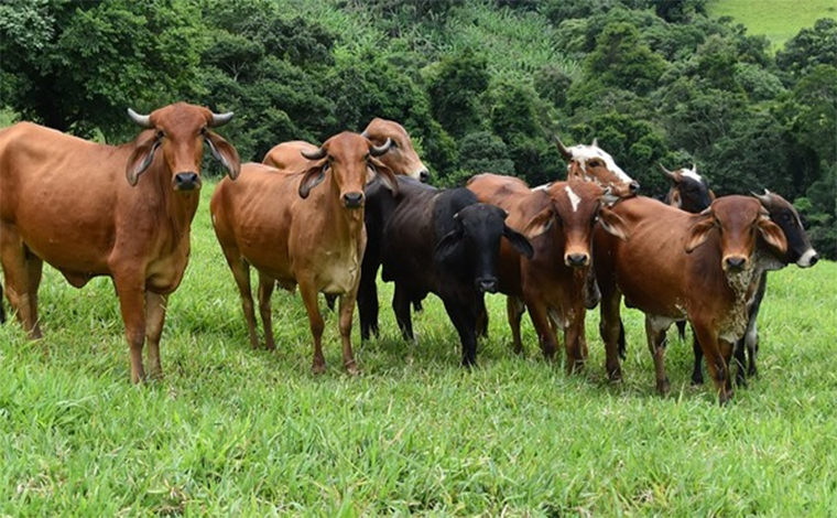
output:
<svg viewBox="0 0 837 518"><path fill-rule="evenodd" d="M732 17L748 33L768 36L773 51L820 18L837 19L834 0L710 0L711 17Z"/></svg>

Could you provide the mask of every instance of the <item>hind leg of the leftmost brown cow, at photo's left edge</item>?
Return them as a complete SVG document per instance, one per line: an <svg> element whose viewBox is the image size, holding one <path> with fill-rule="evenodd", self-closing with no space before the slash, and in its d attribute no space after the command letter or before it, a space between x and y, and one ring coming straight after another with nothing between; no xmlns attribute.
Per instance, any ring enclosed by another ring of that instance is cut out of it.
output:
<svg viewBox="0 0 837 518"><path fill-rule="evenodd" d="M36 300L36 294L32 293L30 285L29 261L32 257L26 253L13 227L9 225L0 227L0 262L6 276L6 296L9 299L12 312L18 315L23 331L30 338L35 339L40 338L42 333L36 315L32 314L32 298Z"/></svg>

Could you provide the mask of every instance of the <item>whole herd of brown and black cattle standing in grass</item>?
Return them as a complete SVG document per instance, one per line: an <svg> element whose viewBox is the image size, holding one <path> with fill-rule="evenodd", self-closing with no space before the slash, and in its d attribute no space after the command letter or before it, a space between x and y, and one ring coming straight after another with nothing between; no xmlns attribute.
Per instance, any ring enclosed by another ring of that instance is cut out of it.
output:
<svg viewBox="0 0 837 518"><path fill-rule="evenodd" d="M585 315L598 304L611 380L621 378L624 298L645 314L663 393L666 330L687 321L693 380L703 381L705 357L726 402L732 358L739 384L756 373L767 272L817 260L798 214L781 196L715 198L694 166L661 168L672 182L665 202L641 196L639 184L596 141L572 148L557 142L567 162L563 181L530 188L519 179L485 173L465 187L439 190L424 183L428 170L404 128L383 119L319 147L284 142L263 163L241 164L214 131L232 114L178 102L148 116L129 109L129 116L143 131L118 147L29 122L0 131L0 263L6 295L32 338L42 335L37 290L44 261L76 288L111 277L134 382L162 375L166 299L188 262L204 142L229 173L213 194L210 213L250 343L259 346L252 266L267 347L275 347L274 287L298 287L316 373L325 370L318 294L329 304L339 299L344 366L356 371L355 306L361 337L377 335L382 269L383 281L394 282L392 307L404 337L414 337L411 310L434 293L459 334L466 366L476 363L477 341L487 330L485 293L507 295L517 353L525 311L547 358L563 332L569 371L587 360Z"/></svg>

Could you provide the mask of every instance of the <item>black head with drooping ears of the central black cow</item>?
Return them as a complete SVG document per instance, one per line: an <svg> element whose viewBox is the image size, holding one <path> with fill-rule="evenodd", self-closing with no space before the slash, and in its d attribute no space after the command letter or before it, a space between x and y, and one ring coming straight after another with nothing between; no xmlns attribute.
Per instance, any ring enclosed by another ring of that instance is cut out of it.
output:
<svg viewBox="0 0 837 518"><path fill-rule="evenodd" d="M485 203L463 208L454 216L454 229L436 244L435 260L441 263L467 261L457 270L470 277L478 292L494 293L499 288L497 267L501 237L528 259L534 255L529 239L506 225L507 216L502 208Z"/></svg>

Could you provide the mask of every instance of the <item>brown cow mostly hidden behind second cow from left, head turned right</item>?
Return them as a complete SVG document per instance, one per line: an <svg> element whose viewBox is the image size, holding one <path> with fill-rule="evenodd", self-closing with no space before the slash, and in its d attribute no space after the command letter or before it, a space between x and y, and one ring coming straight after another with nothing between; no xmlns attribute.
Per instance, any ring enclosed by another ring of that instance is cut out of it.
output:
<svg viewBox="0 0 837 518"><path fill-rule="evenodd" d="M385 145L388 140L392 142L390 150L380 157L380 161L394 174L427 182L430 172L415 152L410 134L403 126L392 120L376 118L361 134L376 145ZM282 142L268 151L262 163L280 170L298 172L308 165L308 160L301 152L313 153L316 150L316 145L302 140Z"/></svg>

